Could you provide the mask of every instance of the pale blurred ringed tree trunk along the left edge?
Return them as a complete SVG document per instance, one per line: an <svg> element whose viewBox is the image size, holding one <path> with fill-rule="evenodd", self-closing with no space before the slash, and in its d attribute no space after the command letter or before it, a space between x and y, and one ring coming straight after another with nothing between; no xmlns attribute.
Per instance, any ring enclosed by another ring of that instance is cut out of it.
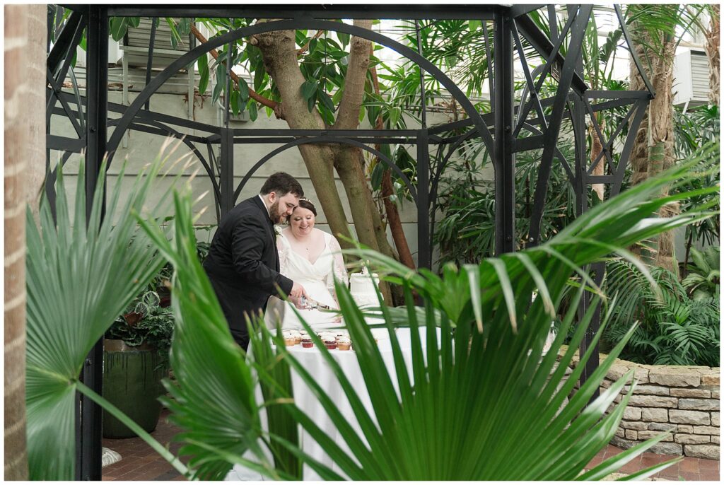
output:
<svg viewBox="0 0 724 485"><path fill-rule="evenodd" d="M45 168L46 5L5 6L5 476L28 479L25 427L25 206ZM20 69L20 67L24 69ZM37 209L36 209L37 210Z"/></svg>

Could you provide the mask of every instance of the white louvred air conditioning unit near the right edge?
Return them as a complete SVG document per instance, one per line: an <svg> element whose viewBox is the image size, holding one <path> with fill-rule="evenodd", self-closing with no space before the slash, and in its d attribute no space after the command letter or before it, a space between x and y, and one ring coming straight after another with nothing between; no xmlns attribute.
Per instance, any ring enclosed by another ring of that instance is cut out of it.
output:
<svg viewBox="0 0 724 485"><path fill-rule="evenodd" d="M709 103L709 60L704 49L690 48L675 57L673 98L684 109Z"/></svg>

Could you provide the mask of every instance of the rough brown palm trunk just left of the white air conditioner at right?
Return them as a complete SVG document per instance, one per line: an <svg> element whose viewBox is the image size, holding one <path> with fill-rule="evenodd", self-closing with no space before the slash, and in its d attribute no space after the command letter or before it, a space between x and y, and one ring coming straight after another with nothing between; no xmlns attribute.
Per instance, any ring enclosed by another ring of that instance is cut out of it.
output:
<svg viewBox="0 0 724 485"><path fill-rule="evenodd" d="M673 38L660 39L662 50L652 59L654 65L653 85L656 98L649 105L649 177L654 177L674 164L673 132L673 60L675 41ZM662 190L668 195L668 187ZM679 213L678 203L668 203L659 211L660 217ZM678 263L674 255L673 231L662 232L656 240L656 264L678 274Z"/></svg>

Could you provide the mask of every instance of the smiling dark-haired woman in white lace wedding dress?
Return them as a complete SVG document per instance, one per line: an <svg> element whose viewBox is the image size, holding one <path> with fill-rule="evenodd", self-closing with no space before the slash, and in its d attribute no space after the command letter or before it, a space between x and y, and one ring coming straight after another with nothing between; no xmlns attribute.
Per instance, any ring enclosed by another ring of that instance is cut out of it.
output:
<svg viewBox="0 0 724 485"><path fill-rule="evenodd" d="M301 198L299 205L287 217L288 226L277 235L279 272L301 284L309 298L314 300L313 303L337 309L340 305L334 294L334 277L346 284L347 271L340 253L340 243L328 232L314 229L315 217L314 204ZM266 324L274 328L277 321L281 321L282 329L303 328L295 309L313 328L340 325L340 319L334 313L297 309L276 297L269 300Z"/></svg>

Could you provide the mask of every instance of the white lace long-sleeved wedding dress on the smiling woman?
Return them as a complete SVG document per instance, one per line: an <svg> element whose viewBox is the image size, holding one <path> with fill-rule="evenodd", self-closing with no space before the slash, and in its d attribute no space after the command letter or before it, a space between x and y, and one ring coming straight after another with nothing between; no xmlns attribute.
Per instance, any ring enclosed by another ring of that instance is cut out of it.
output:
<svg viewBox="0 0 724 485"><path fill-rule="evenodd" d="M277 250L279 250L279 272L295 283L299 283L306 290L307 295L329 308L338 308L334 300L334 277L347 284L347 271L345 262L340 253L340 243L329 232L324 232L324 250L312 263L306 257L292 250L287 237L277 235ZM266 307L265 320L270 328L277 328L277 322L282 322L282 329L302 329L294 306L279 298L269 298ZM300 310L304 321L313 328L339 326L334 320L334 313L319 310ZM278 316L277 316L278 314Z"/></svg>

